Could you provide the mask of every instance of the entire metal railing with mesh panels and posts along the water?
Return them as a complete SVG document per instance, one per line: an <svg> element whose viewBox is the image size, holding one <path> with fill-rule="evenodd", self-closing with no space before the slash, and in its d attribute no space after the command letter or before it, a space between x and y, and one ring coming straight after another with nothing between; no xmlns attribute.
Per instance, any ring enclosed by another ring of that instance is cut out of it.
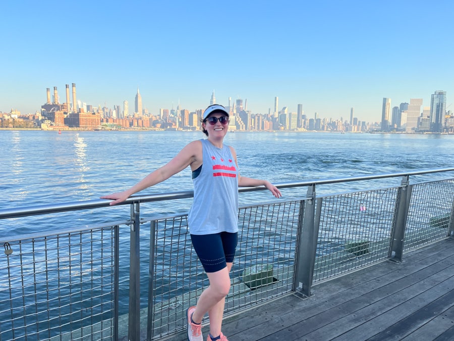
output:
<svg viewBox="0 0 454 341"><path fill-rule="evenodd" d="M242 206L225 314L454 237L454 177L410 184L436 169L277 184L306 196ZM398 186L316 196L321 185L402 178ZM240 188L240 192L262 188ZM185 327L208 280L192 251L187 215L146 216L146 203L192 191L136 196L127 219L1 238L0 339L156 339ZM94 210L92 200L0 210L20 217ZM143 212L145 212L145 215ZM96 211L97 212L97 211ZM1 227L2 225L0 225Z"/></svg>

